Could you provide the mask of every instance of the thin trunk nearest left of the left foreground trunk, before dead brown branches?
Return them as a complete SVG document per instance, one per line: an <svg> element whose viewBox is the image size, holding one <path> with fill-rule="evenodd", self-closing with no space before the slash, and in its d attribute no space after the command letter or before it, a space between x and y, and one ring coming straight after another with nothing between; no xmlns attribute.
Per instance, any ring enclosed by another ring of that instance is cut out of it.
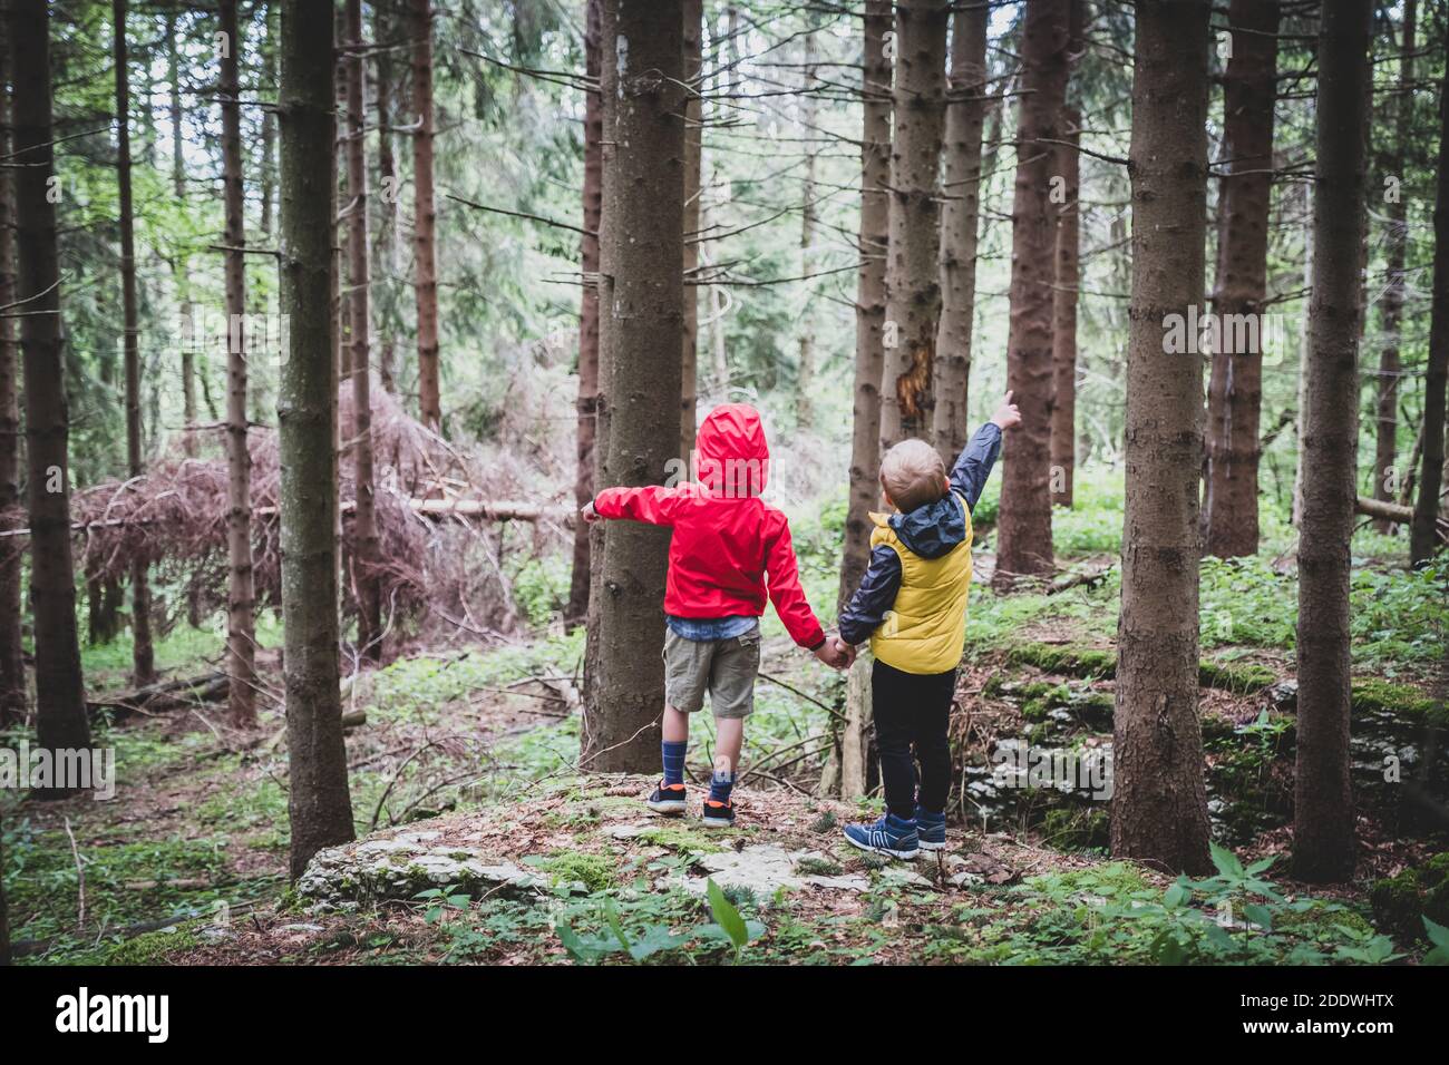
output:
<svg viewBox="0 0 1449 1065"><path fill-rule="evenodd" d="M222 33L230 42L222 57L222 203L226 214L226 675L227 710L236 727L256 723L256 639L252 577L252 456L246 448L248 364L245 200L242 185L242 117L236 0L220 3Z"/></svg>

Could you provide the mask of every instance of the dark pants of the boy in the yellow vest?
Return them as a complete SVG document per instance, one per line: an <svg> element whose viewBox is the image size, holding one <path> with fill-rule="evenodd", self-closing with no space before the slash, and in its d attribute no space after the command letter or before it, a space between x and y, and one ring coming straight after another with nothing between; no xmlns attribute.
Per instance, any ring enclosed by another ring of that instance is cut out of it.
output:
<svg viewBox="0 0 1449 1065"><path fill-rule="evenodd" d="M911 674L880 659L871 668L871 711L875 716L875 746L881 753L885 809L897 817L914 817L917 801L929 813L946 810L951 791L946 723L955 691L955 669ZM919 794L916 762L920 762Z"/></svg>

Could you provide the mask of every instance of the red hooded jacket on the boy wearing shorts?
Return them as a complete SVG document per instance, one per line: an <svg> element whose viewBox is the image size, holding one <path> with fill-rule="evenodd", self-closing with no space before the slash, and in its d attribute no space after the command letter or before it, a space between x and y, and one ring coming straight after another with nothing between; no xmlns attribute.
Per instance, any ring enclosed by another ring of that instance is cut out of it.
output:
<svg viewBox="0 0 1449 1065"><path fill-rule="evenodd" d="M820 646L824 632L800 588L790 523L759 498L769 477L759 412L745 403L714 407L700 426L696 451L698 481L606 488L594 498L594 510L600 517L674 529L667 614L759 617L768 594L791 639L811 651Z"/></svg>

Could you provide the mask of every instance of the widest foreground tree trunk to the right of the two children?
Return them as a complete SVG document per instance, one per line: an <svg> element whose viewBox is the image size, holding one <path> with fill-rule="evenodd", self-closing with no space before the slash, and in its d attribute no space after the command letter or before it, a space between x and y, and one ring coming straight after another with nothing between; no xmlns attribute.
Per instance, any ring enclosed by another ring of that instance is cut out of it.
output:
<svg viewBox="0 0 1449 1065"><path fill-rule="evenodd" d="M1203 298L1208 3L1139 0L1136 30L1111 853L1195 874L1211 868L1197 716L1203 359L1175 352L1169 330Z"/></svg>

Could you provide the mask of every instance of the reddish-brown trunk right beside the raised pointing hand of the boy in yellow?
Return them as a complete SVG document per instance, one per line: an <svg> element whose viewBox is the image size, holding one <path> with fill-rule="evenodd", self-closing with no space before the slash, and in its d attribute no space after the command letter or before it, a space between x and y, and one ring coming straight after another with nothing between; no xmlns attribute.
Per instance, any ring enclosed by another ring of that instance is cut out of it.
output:
<svg viewBox="0 0 1449 1065"><path fill-rule="evenodd" d="M1003 448L1001 510L993 584L1049 574L1052 554L1052 280L1056 225L1052 141L1062 135L1071 0L1027 0L1011 203L1011 316L1006 383L1022 427ZM1136 132L1136 126L1133 128Z"/></svg>

